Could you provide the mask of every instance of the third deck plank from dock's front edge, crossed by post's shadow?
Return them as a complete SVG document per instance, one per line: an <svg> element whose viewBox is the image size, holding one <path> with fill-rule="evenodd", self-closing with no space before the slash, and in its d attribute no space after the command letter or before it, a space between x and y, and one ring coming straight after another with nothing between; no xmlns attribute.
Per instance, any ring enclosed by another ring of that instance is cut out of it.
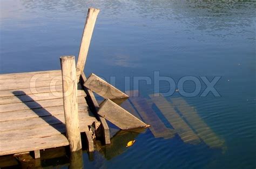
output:
<svg viewBox="0 0 256 169"><path fill-rule="evenodd" d="M79 124L86 123L91 125L96 121L96 118L88 116L88 114L79 112ZM25 118L14 121L0 122L1 132L21 129L31 129L39 126L53 125L53 124L64 124L64 114L56 116L45 116L45 117L34 117ZM81 124L82 125L82 124ZM82 129L81 129L82 130Z"/></svg>

